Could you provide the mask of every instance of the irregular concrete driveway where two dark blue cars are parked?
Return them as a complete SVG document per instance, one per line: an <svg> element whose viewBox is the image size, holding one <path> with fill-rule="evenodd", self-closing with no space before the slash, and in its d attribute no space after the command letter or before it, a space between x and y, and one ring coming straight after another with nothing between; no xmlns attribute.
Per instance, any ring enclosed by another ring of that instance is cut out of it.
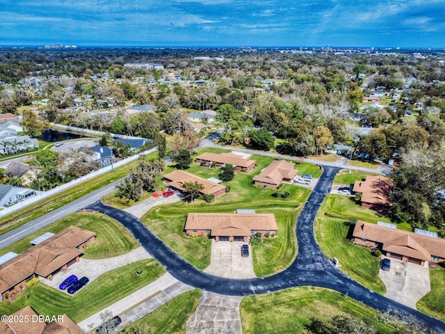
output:
<svg viewBox="0 0 445 334"><path fill-rule="evenodd" d="M65 280L65 278L71 275L76 275L77 278L81 278L83 276L88 277L91 283L93 280L101 276L102 273L106 273L107 271L123 267L139 260L151 258L152 256L149 255L149 253L147 253L147 251L145 251L145 249L142 247L131 250L131 252L124 255L102 260L88 260L81 257L80 261L72 264L67 271L59 271L53 276L52 280L41 278L40 282L48 285L49 287L54 287L54 289L58 289L58 286L63 282L63 280ZM68 294L66 289L63 291Z"/></svg>

